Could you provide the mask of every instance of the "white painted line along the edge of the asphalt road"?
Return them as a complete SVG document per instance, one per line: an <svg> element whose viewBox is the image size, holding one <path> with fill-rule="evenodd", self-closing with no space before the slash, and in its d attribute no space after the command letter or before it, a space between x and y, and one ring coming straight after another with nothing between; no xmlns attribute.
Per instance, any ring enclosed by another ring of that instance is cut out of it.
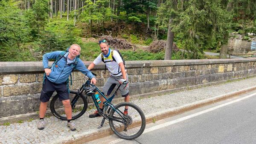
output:
<svg viewBox="0 0 256 144"><path fill-rule="evenodd" d="M221 108L221 107L225 107L225 106L227 106L227 105L229 105L229 104L233 104L233 103L236 103L236 102L238 102L238 101L242 101L242 100L244 100L244 99L246 99L246 98L250 98L250 97L252 97L252 96L254 96L254 95L256 95L256 93L253 93L253 94L251 94L251 95L244 96L244 97L239 98L239 99L236 99L236 100L234 100L234 101L227 102L227 103L225 103L225 104L218 105L218 106L216 106L216 107L212 107L212 108L209 108L209 109L205 109L205 110L203 110L203 111L201 111L201 112L197 112L197 113L194 113L194 114L192 114L192 115L187 115L187 116L185 116L185 117L178 118L178 119L176 119L176 120L166 122L166 123L164 123L164 124L159 124L159 125L157 125L157 126L150 127L150 128L148 128L148 129L145 129L144 132L143 132L143 134L148 133L148 132L152 132L152 131L154 131L154 130L161 129L161 128L163 128L163 127L170 126L170 125L172 125L172 124L176 124L176 123L178 123L178 122L180 122L180 121L185 121L185 120L187 120L187 119L189 119L189 118L194 118L194 117L196 117L196 116L198 116L198 115L202 115L202 114L204 114L204 113L213 111L213 110L215 110L215 109L218 109L218 108ZM121 141L124 141L124 139L118 138L118 139L116 139L116 140L111 141L109 144L116 144L116 143L121 142Z"/></svg>

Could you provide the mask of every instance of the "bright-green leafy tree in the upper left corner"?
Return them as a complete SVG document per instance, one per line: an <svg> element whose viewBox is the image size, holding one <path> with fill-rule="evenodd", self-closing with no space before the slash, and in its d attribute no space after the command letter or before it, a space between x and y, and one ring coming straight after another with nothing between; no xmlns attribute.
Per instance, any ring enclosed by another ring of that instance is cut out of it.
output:
<svg viewBox="0 0 256 144"><path fill-rule="evenodd" d="M0 1L0 45L20 51L20 43L30 40L30 29L28 19L16 5L12 0Z"/></svg>

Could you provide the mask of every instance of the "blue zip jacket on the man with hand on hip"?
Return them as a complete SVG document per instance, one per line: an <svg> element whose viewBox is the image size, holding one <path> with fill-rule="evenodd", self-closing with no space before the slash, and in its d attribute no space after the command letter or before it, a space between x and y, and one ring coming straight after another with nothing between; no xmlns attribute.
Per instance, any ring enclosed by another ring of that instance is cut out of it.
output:
<svg viewBox="0 0 256 144"><path fill-rule="evenodd" d="M43 56L43 65L44 69L49 68L48 67L48 60L49 59L57 59L59 58L62 51L56 51L56 52L49 52L44 54ZM69 75L71 74L73 70L73 63L70 63L67 65L67 55L68 52L57 62L57 67L55 67L55 64L52 65L51 70L52 72L47 76L47 79L55 84L64 84ZM75 60L74 60L75 62ZM88 78L93 78L93 74L86 68L82 60L79 58L78 63L75 67L75 69L82 72L84 75L86 75ZM94 77L95 78L95 77Z"/></svg>

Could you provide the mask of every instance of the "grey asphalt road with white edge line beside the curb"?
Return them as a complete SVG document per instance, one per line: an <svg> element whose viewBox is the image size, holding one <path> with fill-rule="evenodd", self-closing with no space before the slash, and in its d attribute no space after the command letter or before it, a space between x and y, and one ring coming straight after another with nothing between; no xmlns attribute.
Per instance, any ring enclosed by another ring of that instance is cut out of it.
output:
<svg viewBox="0 0 256 144"><path fill-rule="evenodd" d="M147 124L126 141L111 135L90 143L109 144L256 144L256 91Z"/></svg>

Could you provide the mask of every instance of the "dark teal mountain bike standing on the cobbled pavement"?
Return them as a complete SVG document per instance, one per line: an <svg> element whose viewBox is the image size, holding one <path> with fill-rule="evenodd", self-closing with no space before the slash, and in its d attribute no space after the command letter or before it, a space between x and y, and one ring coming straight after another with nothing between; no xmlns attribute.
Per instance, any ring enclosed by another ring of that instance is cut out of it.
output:
<svg viewBox="0 0 256 144"><path fill-rule="evenodd" d="M96 76L96 74L93 73ZM127 84L124 82L123 84ZM111 101L117 94L117 90L122 84L119 84L114 94L107 98L94 84L90 84L90 78L77 91L70 91L70 101L72 107L72 120L81 117L87 110L87 96L91 96L93 103L99 114L103 117L98 128L101 128L107 119L111 130L119 138L131 140L139 137L145 130L146 120L143 111L136 104L131 102L122 102L113 105ZM83 94L85 93L85 95ZM99 109L94 94L98 92L106 101L103 102L103 110ZM128 114L124 114L125 108L128 108ZM50 103L52 114L61 120L67 120L64 107L61 101L58 101L58 95L52 98Z"/></svg>

